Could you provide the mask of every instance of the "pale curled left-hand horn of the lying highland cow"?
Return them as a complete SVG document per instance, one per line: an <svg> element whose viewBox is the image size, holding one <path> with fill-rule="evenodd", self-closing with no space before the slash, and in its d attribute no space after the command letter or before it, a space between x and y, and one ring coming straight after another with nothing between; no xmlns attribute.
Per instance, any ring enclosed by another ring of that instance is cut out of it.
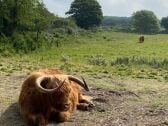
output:
<svg viewBox="0 0 168 126"><path fill-rule="evenodd" d="M53 89L46 89L44 87L41 86L41 83L42 82L46 82L47 84L51 83L51 81L54 79L54 77L51 77L51 76L41 76L39 78L37 78L36 80L36 88L42 92L42 93L53 93L55 92L58 88L60 88L65 81L63 81L60 86L58 86L57 88L53 88Z"/></svg>

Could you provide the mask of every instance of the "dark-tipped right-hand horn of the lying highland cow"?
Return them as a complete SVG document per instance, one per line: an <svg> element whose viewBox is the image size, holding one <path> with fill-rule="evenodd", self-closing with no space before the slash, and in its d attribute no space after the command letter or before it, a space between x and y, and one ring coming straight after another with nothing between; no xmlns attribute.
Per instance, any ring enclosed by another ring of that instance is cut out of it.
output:
<svg viewBox="0 0 168 126"><path fill-rule="evenodd" d="M86 81L85 81L85 79L83 77L82 77L83 82L80 79L78 79L77 77L74 77L74 76L71 76L71 75L68 75L68 79L71 80L71 81L76 82L81 87L83 87L86 91L89 91L89 87L86 84Z"/></svg>

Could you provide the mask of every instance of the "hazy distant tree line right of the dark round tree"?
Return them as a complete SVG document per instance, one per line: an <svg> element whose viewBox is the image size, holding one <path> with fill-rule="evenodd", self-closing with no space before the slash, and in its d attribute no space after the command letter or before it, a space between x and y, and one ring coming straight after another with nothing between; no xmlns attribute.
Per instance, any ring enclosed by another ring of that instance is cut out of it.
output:
<svg viewBox="0 0 168 126"><path fill-rule="evenodd" d="M103 26L142 34L168 33L168 17L159 20L152 11L140 10L131 17L104 17Z"/></svg>

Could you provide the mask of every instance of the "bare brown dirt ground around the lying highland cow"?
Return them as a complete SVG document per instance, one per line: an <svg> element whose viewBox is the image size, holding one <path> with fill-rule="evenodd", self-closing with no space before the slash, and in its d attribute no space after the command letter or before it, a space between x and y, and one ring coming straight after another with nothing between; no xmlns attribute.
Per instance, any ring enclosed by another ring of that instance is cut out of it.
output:
<svg viewBox="0 0 168 126"><path fill-rule="evenodd" d="M15 74L0 77L0 126L27 126L17 106L25 76ZM48 126L168 126L168 111L143 103L141 94L96 87L84 93L93 97L96 106L92 110L76 111L67 122L51 122Z"/></svg>

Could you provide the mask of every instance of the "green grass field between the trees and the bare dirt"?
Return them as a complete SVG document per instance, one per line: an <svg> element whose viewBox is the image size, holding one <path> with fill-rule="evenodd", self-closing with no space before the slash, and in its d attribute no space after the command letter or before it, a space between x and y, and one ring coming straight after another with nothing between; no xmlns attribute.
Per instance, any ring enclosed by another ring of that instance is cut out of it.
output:
<svg viewBox="0 0 168 126"><path fill-rule="evenodd" d="M58 48L2 58L5 66L0 69L10 73L15 69L54 67L67 72L168 80L167 35L146 35L145 42L138 43L137 34L111 31L66 36L60 43Z"/></svg>

